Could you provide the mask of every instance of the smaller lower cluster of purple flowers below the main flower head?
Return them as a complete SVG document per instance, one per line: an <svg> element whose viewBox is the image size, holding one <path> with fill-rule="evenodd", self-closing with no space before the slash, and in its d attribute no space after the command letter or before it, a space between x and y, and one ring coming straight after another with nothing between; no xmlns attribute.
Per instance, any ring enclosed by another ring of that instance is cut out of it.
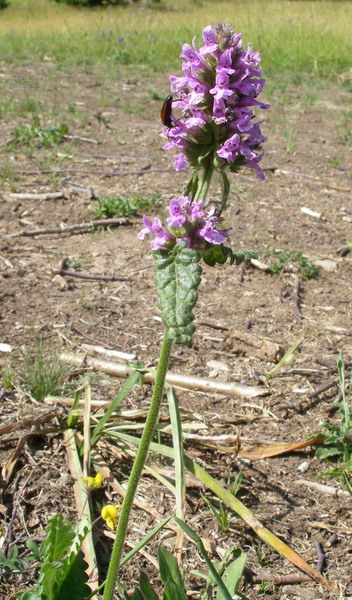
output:
<svg viewBox="0 0 352 600"><path fill-rule="evenodd" d="M217 229L222 218L216 214L216 208L203 210L203 202L192 202L190 196L181 196L172 200L169 206L167 225L154 217L150 221L143 216L144 229L138 233L139 239L151 233L155 237L150 246L153 250L171 249L183 240L187 248L202 250L208 244L222 244L228 238L229 229Z"/></svg>

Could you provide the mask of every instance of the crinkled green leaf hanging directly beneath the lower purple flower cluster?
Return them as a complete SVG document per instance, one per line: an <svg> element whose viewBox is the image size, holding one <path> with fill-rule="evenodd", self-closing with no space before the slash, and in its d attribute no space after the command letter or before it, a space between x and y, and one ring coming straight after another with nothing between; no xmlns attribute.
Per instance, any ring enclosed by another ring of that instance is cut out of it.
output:
<svg viewBox="0 0 352 600"><path fill-rule="evenodd" d="M158 307L169 329L169 338L176 344L191 346L195 331L192 310L198 299L201 255L186 248L185 242L178 242L171 251L155 251L154 258Z"/></svg>

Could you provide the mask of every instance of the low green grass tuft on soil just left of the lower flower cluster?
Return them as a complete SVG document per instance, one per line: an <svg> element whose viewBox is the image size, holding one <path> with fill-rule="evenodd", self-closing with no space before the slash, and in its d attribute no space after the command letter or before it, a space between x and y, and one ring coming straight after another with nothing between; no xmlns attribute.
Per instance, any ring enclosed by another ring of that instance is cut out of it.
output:
<svg viewBox="0 0 352 600"><path fill-rule="evenodd" d="M92 207L92 213L96 219L137 217L149 210L155 204L157 197L157 194L154 194L151 199L144 196L99 198L98 202Z"/></svg>

